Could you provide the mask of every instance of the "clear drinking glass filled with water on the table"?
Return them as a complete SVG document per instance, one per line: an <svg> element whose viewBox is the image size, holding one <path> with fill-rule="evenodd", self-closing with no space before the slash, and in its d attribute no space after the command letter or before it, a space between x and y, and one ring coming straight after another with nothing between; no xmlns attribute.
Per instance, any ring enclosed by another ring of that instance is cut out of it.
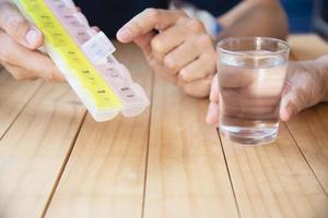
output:
<svg viewBox="0 0 328 218"><path fill-rule="evenodd" d="M218 44L220 132L241 144L277 138L290 46L268 37L227 38Z"/></svg>

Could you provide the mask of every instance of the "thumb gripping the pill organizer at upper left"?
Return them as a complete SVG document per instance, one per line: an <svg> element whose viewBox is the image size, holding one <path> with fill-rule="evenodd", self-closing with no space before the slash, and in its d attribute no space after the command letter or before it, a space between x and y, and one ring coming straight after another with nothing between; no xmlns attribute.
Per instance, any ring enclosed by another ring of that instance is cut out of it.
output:
<svg viewBox="0 0 328 218"><path fill-rule="evenodd" d="M38 48L44 41L42 32L9 2L0 2L0 28L16 43L30 49Z"/></svg>

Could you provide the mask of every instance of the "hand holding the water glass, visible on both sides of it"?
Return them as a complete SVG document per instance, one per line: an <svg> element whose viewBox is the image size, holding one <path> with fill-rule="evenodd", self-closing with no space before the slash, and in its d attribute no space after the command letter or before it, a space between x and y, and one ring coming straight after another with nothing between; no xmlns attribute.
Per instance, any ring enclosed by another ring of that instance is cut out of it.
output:
<svg viewBox="0 0 328 218"><path fill-rule="evenodd" d="M327 74L328 72L324 72L324 69L327 70L327 59L328 56L316 61L298 61L290 63L288 77L282 94L281 106L279 109L279 117L282 121L289 121L297 112L325 100L325 97L327 97L326 92L328 87L325 87L324 76L325 73ZM247 84L249 83L247 82ZM216 74L212 81L210 105L207 114L207 122L214 126L219 125L219 78ZM234 96L233 99L236 101L236 96ZM271 102L270 99L267 99L266 101L251 101L251 99L244 98L244 100L245 102L243 102L242 105L245 106L245 104L248 104L254 106L258 104L257 108L259 109L260 106L266 106L265 108L267 108L267 106L270 104L272 104L271 106L277 104L276 101ZM241 108L241 110L245 112L247 110L247 107L243 107ZM260 111L263 110L260 109Z"/></svg>

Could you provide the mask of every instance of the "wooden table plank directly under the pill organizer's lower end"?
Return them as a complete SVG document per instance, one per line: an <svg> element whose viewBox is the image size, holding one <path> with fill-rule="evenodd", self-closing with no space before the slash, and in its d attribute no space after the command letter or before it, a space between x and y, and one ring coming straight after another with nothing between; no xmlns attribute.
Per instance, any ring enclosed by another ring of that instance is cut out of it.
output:
<svg viewBox="0 0 328 218"><path fill-rule="evenodd" d="M119 47L118 57L151 95L152 71L140 51ZM141 217L149 119L150 109L106 123L87 117L46 217Z"/></svg>

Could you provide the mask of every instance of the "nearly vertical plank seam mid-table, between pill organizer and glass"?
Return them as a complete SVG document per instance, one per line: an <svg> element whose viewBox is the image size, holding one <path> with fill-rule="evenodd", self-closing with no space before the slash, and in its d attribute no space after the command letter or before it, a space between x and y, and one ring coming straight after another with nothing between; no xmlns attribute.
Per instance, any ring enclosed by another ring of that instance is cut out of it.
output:
<svg viewBox="0 0 328 218"><path fill-rule="evenodd" d="M148 142L147 142L147 152L145 152L145 167L144 167L144 179L143 179L143 195L142 195L142 204L141 204L141 218L144 217L144 206L145 206L145 193L147 193L147 177L148 177L148 160L149 160L149 146L150 146L150 137L151 137L151 126L152 126L152 113L153 113L153 101L154 101L154 86L155 86L155 73L153 72L151 77L151 105L149 112L149 121L148 121Z"/></svg>

